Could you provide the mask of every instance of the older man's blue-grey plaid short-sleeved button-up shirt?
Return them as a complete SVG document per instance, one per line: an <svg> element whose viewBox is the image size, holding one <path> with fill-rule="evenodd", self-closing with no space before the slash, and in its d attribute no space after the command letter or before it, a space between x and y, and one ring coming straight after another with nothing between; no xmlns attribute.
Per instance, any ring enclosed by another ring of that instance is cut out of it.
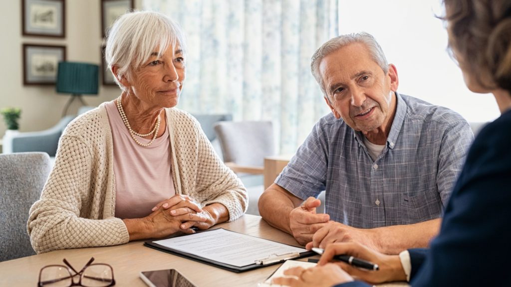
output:
<svg viewBox="0 0 511 287"><path fill-rule="evenodd" d="M439 218L474 138L452 110L396 93L397 108L376 160L361 132L322 117L275 183L301 199L326 190L331 220L357 228Z"/></svg>

